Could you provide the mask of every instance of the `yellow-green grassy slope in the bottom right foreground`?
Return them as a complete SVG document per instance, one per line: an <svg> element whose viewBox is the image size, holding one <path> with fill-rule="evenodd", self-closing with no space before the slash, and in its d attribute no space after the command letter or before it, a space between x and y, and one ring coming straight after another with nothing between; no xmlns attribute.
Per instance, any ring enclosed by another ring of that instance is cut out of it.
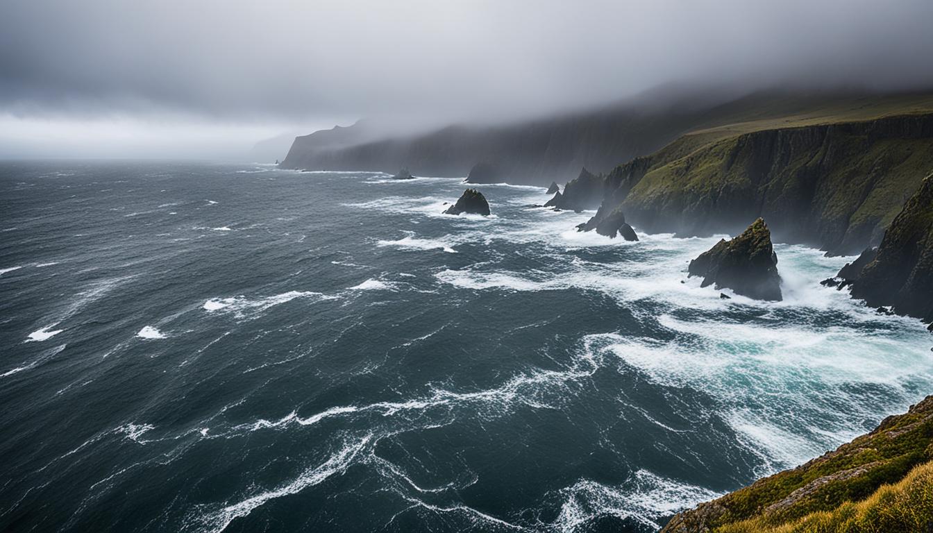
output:
<svg viewBox="0 0 933 533"><path fill-rule="evenodd" d="M929 531L931 459L928 396L835 451L675 515L661 532Z"/></svg>

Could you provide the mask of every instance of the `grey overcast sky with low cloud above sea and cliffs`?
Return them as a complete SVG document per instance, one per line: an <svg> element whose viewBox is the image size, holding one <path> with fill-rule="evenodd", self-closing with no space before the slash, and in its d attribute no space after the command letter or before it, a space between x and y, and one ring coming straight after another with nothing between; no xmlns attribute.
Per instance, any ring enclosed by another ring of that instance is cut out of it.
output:
<svg viewBox="0 0 933 533"><path fill-rule="evenodd" d="M0 157L226 157L668 83L933 86L931 0L2 0Z"/></svg>

